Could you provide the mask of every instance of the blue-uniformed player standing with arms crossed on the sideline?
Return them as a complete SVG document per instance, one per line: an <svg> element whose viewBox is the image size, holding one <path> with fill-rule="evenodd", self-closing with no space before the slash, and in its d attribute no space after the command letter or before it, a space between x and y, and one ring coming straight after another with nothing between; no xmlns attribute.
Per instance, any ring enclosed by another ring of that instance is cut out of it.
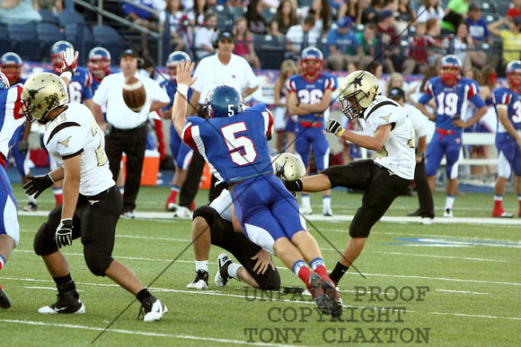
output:
<svg viewBox="0 0 521 347"><path fill-rule="evenodd" d="M296 115L295 149L309 169L309 156L313 150L316 170L320 174L329 167L330 145L326 139L324 122L329 118L331 93L337 89L337 79L322 73L322 52L310 47L302 51L302 74L287 81L287 112ZM312 214L308 193L302 195L301 213ZM332 216L331 191L322 192L322 213Z"/></svg>

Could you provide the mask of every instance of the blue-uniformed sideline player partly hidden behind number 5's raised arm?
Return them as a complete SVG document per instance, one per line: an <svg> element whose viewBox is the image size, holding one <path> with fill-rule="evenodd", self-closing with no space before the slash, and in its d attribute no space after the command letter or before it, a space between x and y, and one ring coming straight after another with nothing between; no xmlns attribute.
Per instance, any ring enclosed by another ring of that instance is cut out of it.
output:
<svg viewBox="0 0 521 347"><path fill-rule="evenodd" d="M170 80L160 83L160 85L170 97L170 105L163 108L163 118L166 119L172 119L173 98L175 97L175 91L177 90L177 65L179 65L183 59L184 61L188 61L190 56L185 52L178 50L172 52L166 60L166 68L168 69L168 74L170 74ZM190 100L191 90L188 92L188 98ZM166 211L176 211L178 205L175 204L175 202L182 183L186 178L186 173L188 171L193 151L189 146L181 141L181 137L179 137L179 134L177 134L177 131L173 125L170 127L170 150L172 152L172 158L175 161L175 173L173 174L170 195L166 199L165 208ZM192 204L194 203L192 202ZM195 205L193 207L195 208Z"/></svg>

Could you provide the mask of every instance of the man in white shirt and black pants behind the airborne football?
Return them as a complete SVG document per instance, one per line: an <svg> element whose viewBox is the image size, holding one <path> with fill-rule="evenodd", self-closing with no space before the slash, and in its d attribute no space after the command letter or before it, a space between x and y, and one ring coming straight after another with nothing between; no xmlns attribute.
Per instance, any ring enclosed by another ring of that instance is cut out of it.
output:
<svg viewBox="0 0 521 347"><path fill-rule="evenodd" d="M146 121L148 114L170 104L170 98L159 83L138 73L137 52L123 51L119 57L119 74L110 74L93 96L93 111L96 121L105 132L105 152L109 157L110 171L114 180L119 175L119 164L123 152L127 154L127 178L123 199L123 218L134 218L137 192L141 181L143 160L146 150ZM123 100L123 83L128 76L136 76L146 90L146 102L139 112L127 107ZM107 122L103 118L102 105L107 103Z"/></svg>

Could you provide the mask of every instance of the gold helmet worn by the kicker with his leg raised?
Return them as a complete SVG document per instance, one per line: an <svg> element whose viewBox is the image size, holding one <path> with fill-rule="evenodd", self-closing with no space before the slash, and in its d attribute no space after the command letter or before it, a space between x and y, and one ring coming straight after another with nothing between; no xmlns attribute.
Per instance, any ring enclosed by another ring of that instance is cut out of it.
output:
<svg viewBox="0 0 521 347"><path fill-rule="evenodd" d="M355 71L340 85L340 108L349 119L363 117L364 111L380 91L380 83L374 74Z"/></svg>

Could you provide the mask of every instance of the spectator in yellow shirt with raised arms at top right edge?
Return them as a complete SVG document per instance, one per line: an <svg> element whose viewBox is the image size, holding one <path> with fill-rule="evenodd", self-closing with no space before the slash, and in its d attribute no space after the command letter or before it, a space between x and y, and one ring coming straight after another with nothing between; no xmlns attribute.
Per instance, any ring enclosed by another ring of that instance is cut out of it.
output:
<svg viewBox="0 0 521 347"><path fill-rule="evenodd" d="M508 25L508 30L499 29L503 24ZM521 17L505 17L491 22L489 30L492 35L503 40L503 65L507 65L512 60L518 60L519 51L521 51Z"/></svg>

